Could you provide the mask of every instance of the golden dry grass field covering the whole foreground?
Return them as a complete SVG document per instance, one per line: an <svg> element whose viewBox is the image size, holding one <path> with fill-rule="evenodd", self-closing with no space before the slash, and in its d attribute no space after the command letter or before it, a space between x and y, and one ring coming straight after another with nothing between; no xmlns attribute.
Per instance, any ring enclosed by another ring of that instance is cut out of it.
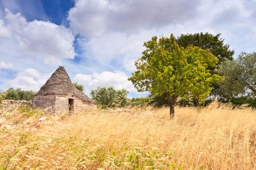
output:
<svg viewBox="0 0 256 170"><path fill-rule="evenodd" d="M168 108L92 110L39 122L41 114L1 114L0 170L256 169L256 111L249 108L177 107L174 119Z"/></svg>

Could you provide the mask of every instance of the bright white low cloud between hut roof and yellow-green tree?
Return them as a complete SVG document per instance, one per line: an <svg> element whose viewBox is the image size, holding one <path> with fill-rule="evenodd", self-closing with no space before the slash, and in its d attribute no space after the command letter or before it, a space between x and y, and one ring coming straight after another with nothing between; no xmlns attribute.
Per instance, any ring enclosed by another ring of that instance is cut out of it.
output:
<svg viewBox="0 0 256 170"><path fill-rule="evenodd" d="M78 82L85 86L87 94L88 90L95 89L97 87L109 87L114 86L117 89L125 88L130 92L136 92L131 82L128 80L128 76L122 71L103 71L101 73L93 73L89 75L77 74L74 77L74 82ZM88 90L87 90L88 89Z"/></svg>

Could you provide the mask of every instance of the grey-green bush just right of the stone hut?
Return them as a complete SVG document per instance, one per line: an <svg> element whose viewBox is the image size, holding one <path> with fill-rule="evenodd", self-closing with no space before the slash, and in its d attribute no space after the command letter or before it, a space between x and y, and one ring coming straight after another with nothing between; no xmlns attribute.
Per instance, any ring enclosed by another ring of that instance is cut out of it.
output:
<svg viewBox="0 0 256 170"><path fill-rule="evenodd" d="M101 108L124 107L130 104L126 89L116 90L114 87L98 87L91 90L92 99L96 100Z"/></svg>

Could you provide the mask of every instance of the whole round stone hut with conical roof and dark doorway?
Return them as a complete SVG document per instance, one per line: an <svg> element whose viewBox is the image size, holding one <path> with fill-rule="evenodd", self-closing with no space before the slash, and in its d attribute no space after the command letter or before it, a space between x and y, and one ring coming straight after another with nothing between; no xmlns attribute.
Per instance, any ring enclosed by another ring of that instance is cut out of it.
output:
<svg viewBox="0 0 256 170"><path fill-rule="evenodd" d="M51 113L80 112L96 107L96 102L78 90L64 67L59 67L35 94L32 101Z"/></svg>

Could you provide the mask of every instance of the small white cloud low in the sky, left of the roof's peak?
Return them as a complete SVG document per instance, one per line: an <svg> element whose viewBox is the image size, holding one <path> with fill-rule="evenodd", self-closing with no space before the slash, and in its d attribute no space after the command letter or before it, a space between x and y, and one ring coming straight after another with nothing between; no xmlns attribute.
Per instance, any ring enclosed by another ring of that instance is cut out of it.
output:
<svg viewBox="0 0 256 170"><path fill-rule="evenodd" d="M50 75L50 73L40 74L34 68L26 68L24 71L18 72L14 79L8 80L4 86L38 91Z"/></svg>

